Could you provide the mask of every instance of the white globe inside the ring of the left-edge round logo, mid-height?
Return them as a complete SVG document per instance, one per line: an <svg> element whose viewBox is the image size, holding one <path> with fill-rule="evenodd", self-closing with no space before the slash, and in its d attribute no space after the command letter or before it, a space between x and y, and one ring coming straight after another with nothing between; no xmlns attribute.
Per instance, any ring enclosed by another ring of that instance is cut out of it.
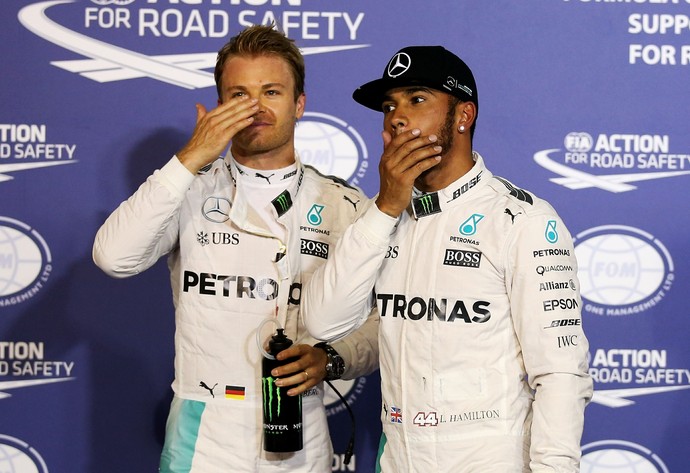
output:
<svg viewBox="0 0 690 473"><path fill-rule="evenodd" d="M3 226L0 220L0 296L30 286L42 269L43 258L37 243L26 233Z"/></svg>

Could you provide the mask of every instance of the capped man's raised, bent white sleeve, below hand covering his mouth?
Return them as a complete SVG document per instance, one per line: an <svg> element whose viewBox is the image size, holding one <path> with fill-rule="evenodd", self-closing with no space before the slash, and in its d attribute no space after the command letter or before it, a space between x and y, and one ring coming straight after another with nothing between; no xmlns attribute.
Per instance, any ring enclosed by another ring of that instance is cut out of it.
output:
<svg viewBox="0 0 690 473"><path fill-rule="evenodd" d="M374 283L396 222L369 200L314 272L303 288L300 312L314 338L336 340L365 323L375 305Z"/></svg>

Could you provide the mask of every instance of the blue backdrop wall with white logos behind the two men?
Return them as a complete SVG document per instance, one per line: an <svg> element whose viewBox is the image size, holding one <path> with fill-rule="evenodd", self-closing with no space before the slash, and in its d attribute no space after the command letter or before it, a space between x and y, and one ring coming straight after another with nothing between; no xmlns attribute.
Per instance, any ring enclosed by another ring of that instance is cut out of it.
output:
<svg viewBox="0 0 690 473"><path fill-rule="evenodd" d="M156 471L173 311L160 262L112 280L105 217L181 148L241 28L303 49L308 163L370 196L381 116L351 92L401 47L474 70L475 148L576 237L595 397L582 471L690 471L690 0L3 0L0 471ZM333 471L371 472L378 375L332 394Z"/></svg>

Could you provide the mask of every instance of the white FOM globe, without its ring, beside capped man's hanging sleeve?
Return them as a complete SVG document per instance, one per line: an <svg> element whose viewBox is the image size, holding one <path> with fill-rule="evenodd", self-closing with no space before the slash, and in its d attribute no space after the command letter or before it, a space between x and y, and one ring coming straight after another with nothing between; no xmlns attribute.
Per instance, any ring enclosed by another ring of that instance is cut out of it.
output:
<svg viewBox="0 0 690 473"><path fill-rule="evenodd" d="M599 234L575 247L582 296L606 305L639 302L659 288L666 275L659 251L633 235Z"/></svg>

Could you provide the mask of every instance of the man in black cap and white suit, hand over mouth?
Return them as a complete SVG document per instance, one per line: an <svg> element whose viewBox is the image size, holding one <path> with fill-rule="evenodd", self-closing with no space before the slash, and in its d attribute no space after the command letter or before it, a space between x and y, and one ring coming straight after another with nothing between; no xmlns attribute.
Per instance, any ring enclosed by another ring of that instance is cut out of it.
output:
<svg viewBox="0 0 690 473"><path fill-rule="evenodd" d="M379 471L579 471L592 382L563 221L473 150L477 87L444 48L400 50L353 97L383 112L381 189L302 314L333 340L378 306Z"/></svg>

